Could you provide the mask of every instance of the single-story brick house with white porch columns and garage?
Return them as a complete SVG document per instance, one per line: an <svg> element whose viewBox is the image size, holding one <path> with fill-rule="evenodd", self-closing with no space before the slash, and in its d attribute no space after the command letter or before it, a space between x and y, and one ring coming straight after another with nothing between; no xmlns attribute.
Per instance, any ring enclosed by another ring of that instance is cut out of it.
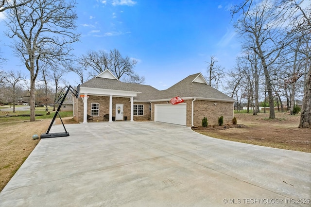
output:
<svg viewBox="0 0 311 207"><path fill-rule="evenodd" d="M109 70L78 86L74 98L73 116L76 121L159 121L185 126L201 126L207 117L209 125L232 123L236 100L208 86L201 73L188 76L166 90L152 86L123 83ZM181 104L170 100L179 96Z"/></svg>

